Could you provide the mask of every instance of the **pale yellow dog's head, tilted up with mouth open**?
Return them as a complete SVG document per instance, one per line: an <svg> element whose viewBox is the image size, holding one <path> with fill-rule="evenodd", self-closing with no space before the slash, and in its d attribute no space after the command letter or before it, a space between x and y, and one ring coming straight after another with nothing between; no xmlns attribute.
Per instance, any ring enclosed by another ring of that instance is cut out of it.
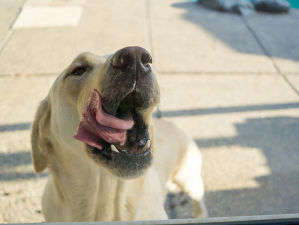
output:
<svg viewBox="0 0 299 225"><path fill-rule="evenodd" d="M31 136L36 171L55 154L87 153L119 177L142 174L151 164L151 114L159 101L151 62L140 47L107 58L80 54L37 111Z"/></svg>

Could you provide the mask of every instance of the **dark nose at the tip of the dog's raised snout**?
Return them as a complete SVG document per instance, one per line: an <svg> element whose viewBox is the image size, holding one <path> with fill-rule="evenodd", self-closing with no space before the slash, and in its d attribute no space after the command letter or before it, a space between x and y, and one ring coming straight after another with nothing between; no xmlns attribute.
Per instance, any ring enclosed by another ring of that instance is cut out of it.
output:
<svg viewBox="0 0 299 225"><path fill-rule="evenodd" d="M151 55L141 47L127 47L117 51L111 60L111 65L122 71L138 71L147 73L152 63Z"/></svg>

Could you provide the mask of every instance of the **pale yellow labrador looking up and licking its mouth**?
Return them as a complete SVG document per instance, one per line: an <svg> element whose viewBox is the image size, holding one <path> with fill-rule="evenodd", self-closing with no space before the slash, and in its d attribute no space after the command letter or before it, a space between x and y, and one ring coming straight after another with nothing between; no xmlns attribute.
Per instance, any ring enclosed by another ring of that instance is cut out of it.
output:
<svg viewBox="0 0 299 225"><path fill-rule="evenodd" d="M127 47L80 54L54 82L32 127L36 172L48 169L46 221L167 219L171 181L206 213L201 155L169 122L152 119L159 87L150 54Z"/></svg>

